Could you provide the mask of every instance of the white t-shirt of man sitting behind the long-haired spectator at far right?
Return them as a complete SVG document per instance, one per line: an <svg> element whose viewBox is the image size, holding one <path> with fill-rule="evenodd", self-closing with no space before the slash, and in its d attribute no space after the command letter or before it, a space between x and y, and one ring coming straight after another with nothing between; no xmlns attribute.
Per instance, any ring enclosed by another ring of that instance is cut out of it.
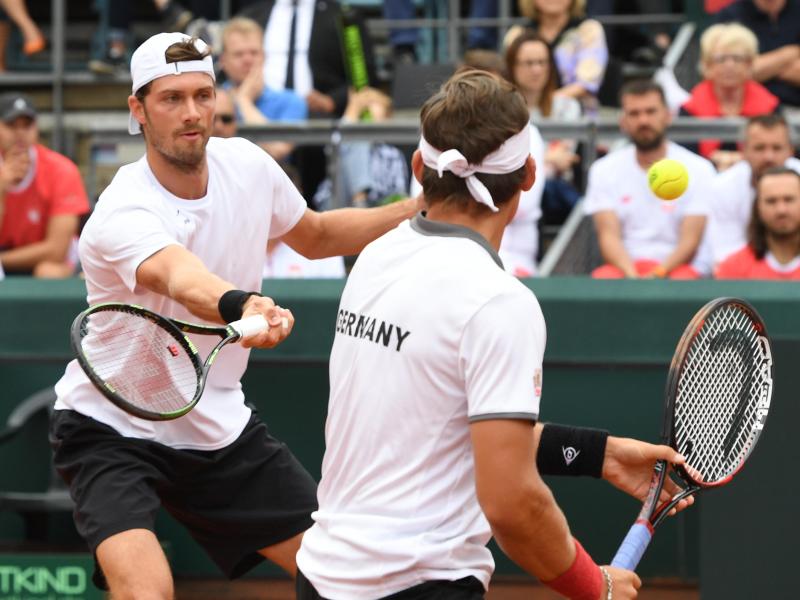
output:
<svg viewBox="0 0 800 600"><path fill-rule="evenodd" d="M800 160L790 157L784 163L800 173ZM746 160L719 173L711 183L711 216L708 221L709 243L714 264L747 244L747 227L756 191L753 169Z"/></svg>

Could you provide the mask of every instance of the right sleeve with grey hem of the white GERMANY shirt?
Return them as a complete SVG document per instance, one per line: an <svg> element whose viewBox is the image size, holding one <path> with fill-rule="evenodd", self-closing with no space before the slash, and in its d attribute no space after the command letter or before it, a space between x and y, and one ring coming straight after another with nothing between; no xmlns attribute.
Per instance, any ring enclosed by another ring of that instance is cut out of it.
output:
<svg viewBox="0 0 800 600"><path fill-rule="evenodd" d="M470 421L538 418L545 336L527 291L497 296L472 317L459 357Z"/></svg>

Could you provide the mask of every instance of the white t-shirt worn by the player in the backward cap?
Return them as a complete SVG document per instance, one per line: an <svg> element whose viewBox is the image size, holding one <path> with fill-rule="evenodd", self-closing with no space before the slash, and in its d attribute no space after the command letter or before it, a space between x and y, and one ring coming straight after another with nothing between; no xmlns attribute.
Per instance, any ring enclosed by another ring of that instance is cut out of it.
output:
<svg viewBox="0 0 800 600"><path fill-rule="evenodd" d="M136 283L136 269L170 245L184 246L216 275L244 290L261 289L267 239L291 230L306 203L283 170L241 138L209 140L208 191L198 200L168 192L146 157L122 167L81 234L79 251L87 300L142 305L165 316L200 322L180 304ZM205 359L219 341L191 336ZM105 399L72 361L56 384L56 409L72 409L128 437L174 448L215 450L238 437L250 418L239 382L249 350L231 344L217 357L203 398L180 419L152 422L130 416Z"/></svg>

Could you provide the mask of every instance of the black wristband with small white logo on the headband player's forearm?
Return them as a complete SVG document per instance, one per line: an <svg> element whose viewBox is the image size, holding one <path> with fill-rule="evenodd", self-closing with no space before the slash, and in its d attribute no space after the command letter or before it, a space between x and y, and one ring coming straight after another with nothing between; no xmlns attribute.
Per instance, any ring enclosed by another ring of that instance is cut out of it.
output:
<svg viewBox="0 0 800 600"><path fill-rule="evenodd" d="M602 477L608 432L547 423L542 429L536 467L542 475Z"/></svg>

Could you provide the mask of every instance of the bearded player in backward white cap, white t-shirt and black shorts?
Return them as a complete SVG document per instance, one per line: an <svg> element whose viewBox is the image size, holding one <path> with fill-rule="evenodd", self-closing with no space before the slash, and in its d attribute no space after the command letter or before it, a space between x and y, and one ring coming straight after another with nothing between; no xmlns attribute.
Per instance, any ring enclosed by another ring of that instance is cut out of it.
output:
<svg viewBox="0 0 800 600"><path fill-rule="evenodd" d="M151 37L134 52L131 77L129 130L142 133L146 153L118 171L83 230L89 304L135 303L212 323L262 314L272 327L250 345L272 347L294 319L258 293L269 239L282 237L310 258L356 254L416 212L415 201L402 201L314 213L258 146L209 139L214 66L200 40ZM210 340L196 344L202 356L211 349ZM240 379L248 353L221 352L202 402L174 421L118 409L75 361L58 382L55 465L101 567L95 581L107 582L115 600L174 595L154 533L162 505L229 577L265 557L294 574L316 485L245 404Z"/></svg>

